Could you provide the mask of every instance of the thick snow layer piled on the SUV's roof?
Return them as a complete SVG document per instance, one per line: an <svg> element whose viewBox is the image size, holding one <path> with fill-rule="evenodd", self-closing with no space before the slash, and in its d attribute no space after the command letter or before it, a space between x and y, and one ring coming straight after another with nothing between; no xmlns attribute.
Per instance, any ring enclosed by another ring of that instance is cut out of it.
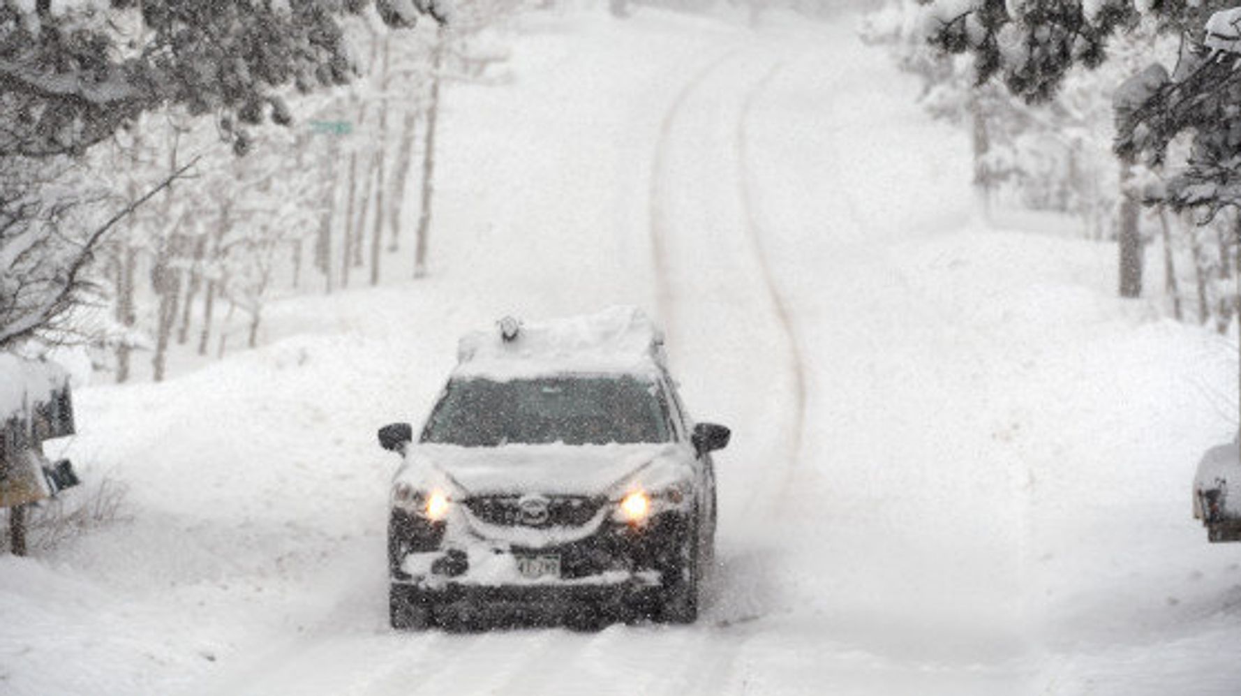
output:
<svg viewBox="0 0 1241 696"><path fill-rule="evenodd" d="M514 380L565 373L655 376L664 332L634 306L537 323L501 319L462 336L458 377Z"/></svg>

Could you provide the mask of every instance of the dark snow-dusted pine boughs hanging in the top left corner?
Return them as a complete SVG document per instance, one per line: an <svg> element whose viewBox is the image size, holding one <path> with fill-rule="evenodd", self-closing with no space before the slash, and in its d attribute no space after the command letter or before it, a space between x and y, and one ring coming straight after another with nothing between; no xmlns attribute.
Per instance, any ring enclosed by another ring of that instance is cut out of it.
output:
<svg viewBox="0 0 1241 696"><path fill-rule="evenodd" d="M370 2L0 4L0 156L81 154L141 113L216 113L243 153L251 127L289 114L279 91L347 83L341 22ZM392 27L448 16L443 1L376 0Z"/></svg>

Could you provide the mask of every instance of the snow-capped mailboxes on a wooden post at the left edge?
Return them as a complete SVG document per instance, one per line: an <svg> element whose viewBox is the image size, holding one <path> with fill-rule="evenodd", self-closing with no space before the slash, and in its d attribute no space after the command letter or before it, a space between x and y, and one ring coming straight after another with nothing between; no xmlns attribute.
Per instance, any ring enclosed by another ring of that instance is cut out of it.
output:
<svg viewBox="0 0 1241 696"><path fill-rule="evenodd" d="M0 354L0 507L10 512L11 550L24 552L22 506L78 483L67 459L50 463L43 440L73 434L68 375L47 361Z"/></svg>

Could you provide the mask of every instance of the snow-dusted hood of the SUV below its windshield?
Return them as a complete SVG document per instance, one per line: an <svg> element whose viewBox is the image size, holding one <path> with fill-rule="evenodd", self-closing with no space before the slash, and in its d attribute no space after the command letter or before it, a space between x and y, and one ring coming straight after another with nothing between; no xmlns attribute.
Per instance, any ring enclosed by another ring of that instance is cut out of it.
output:
<svg viewBox="0 0 1241 696"><path fill-rule="evenodd" d="M416 444L396 480L416 489L447 485L458 495L613 495L629 485L659 490L689 479L692 458L689 447L674 443Z"/></svg>

